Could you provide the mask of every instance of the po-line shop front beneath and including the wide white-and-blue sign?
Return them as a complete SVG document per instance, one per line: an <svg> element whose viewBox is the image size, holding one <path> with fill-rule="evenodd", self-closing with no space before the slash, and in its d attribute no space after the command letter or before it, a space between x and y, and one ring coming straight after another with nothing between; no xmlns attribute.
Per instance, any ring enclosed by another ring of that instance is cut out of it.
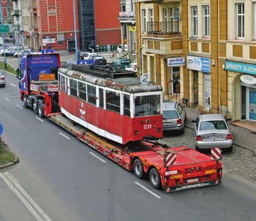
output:
<svg viewBox="0 0 256 221"><path fill-rule="evenodd" d="M207 57L188 56L189 106L200 111L211 109L211 66Z"/></svg>

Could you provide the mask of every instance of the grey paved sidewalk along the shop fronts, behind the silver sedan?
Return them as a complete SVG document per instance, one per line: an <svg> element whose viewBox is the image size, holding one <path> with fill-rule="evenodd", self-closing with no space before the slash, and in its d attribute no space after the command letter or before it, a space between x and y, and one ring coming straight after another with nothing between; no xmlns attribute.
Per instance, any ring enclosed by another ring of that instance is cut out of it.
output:
<svg viewBox="0 0 256 221"><path fill-rule="evenodd" d="M194 129L194 123L191 123L191 120L195 120L195 118L201 113L198 112L196 109L187 108L186 114L187 114L186 127ZM245 129L243 127L240 127L237 124L231 124L230 127L233 135L234 145L253 150L254 153L256 153L255 132Z"/></svg>

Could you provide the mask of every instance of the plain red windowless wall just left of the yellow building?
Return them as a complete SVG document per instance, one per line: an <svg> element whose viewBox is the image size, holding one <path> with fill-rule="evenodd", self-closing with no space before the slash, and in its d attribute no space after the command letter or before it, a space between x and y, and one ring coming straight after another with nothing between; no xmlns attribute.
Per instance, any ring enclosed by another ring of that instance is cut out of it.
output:
<svg viewBox="0 0 256 221"><path fill-rule="evenodd" d="M94 0L94 24L98 45L121 43L119 11L120 0Z"/></svg>

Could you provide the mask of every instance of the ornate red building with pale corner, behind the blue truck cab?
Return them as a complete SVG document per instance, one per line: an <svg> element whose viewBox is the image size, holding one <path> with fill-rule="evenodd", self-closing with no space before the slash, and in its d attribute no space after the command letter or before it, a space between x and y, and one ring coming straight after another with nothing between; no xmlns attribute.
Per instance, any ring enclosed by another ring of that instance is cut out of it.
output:
<svg viewBox="0 0 256 221"><path fill-rule="evenodd" d="M41 46L74 51L73 1L20 1L25 45L35 50ZM75 5L77 10L77 1Z"/></svg>

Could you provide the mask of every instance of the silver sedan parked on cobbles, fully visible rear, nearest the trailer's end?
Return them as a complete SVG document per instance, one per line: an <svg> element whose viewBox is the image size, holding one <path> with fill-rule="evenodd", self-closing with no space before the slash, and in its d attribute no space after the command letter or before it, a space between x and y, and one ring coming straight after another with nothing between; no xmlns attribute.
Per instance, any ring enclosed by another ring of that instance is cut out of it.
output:
<svg viewBox="0 0 256 221"><path fill-rule="evenodd" d="M197 150L221 147L232 152L232 133L222 114L199 115L192 123L195 123L195 148Z"/></svg>

